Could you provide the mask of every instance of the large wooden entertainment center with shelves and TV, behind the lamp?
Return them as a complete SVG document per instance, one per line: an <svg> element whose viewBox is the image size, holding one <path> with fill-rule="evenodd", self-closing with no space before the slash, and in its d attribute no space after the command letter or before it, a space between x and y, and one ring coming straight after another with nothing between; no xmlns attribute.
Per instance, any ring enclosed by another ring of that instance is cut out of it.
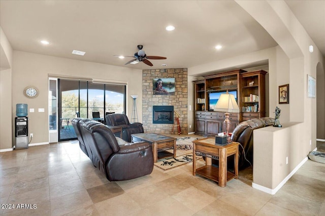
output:
<svg viewBox="0 0 325 216"><path fill-rule="evenodd" d="M265 74L264 70L247 72L233 70L204 76L204 80L193 81L195 85L196 134L214 136L225 132L224 113L214 111L216 101L210 100L214 93L237 92L240 113L230 113L233 132L240 121L265 117Z"/></svg>

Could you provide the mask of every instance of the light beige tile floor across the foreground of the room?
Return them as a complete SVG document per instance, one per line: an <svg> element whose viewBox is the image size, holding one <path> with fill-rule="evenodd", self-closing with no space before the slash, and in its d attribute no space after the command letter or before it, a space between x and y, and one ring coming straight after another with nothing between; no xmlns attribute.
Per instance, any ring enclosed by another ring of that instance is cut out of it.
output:
<svg viewBox="0 0 325 216"><path fill-rule="evenodd" d="M3 152L0 166L2 207L36 204L35 209L2 208L4 216L325 215L325 164L311 160L275 195L251 187L249 168L221 188L192 176L191 163L169 171L154 167L151 175L109 182L76 142Z"/></svg>

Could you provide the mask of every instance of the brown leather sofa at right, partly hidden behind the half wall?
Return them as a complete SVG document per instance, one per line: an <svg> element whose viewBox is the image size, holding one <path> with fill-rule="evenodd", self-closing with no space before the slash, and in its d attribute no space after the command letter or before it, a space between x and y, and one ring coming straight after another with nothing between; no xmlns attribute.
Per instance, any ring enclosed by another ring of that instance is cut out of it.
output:
<svg viewBox="0 0 325 216"><path fill-rule="evenodd" d="M274 118L263 117L257 119L251 119L239 123L232 133L232 141L238 142L241 144L239 146L239 169L244 169L250 166L250 163L253 165L253 131L254 129L271 126L274 124ZM245 154L244 154L245 152ZM245 157L246 159L245 160ZM229 161L233 161L230 159ZM231 166L231 164L229 164Z"/></svg>

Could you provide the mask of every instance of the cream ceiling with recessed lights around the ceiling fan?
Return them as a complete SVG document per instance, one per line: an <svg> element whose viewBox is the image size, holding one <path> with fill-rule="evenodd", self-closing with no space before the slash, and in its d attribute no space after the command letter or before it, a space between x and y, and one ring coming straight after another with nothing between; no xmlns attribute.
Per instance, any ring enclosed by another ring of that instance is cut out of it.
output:
<svg viewBox="0 0 325 216"><path fill-rule="evenodd" d="M325 54L325 1L285 1ZM14 50L137 69L187 68L277 46L234 1L0 1ZM166 31L174 25L174 31ZM50 45L40 44L48 40ZM216 45L222 45L216 50ZM124 65L137 45L150 60ZM73 50L85 56L71 54Z"/></svg>

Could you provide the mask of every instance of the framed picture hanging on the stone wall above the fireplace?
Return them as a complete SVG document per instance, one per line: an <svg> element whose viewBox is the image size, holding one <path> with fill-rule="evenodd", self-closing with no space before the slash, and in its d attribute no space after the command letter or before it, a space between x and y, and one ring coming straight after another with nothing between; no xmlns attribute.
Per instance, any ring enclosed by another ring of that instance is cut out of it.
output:
<svg viewBox="0 0 325 216"><path fill-rule="evenodd" d="M175 78L154 78L153 95L175 95Z"/></svg>

